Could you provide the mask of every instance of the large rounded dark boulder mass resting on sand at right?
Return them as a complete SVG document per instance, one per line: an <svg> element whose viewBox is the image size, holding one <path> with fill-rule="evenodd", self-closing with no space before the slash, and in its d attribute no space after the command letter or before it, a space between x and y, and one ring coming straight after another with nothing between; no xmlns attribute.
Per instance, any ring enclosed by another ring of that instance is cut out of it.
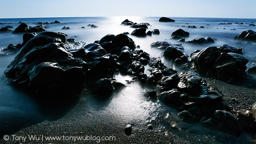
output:
<svg viewBox="0 0 256 144"><path fill-rule="evenodd" d="M208 47L191 54L195 68L200 74L223 81L243 78L249 60L241 54L225 53L223 47ZM222 53L221 53L222 51Z"/></svg>

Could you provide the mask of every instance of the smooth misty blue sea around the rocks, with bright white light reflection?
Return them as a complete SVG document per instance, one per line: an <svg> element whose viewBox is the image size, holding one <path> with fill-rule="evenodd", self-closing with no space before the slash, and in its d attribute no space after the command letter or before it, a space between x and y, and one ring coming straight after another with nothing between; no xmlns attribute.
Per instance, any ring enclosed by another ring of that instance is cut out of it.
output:
<svg viewBox="0 0 256 144"><path fill-rule="evenodd" d="M152 57L161 57L161 51L153 50L150 44L154 41L168 41L172 44L178 44L176 40L172 40L171 33L179 28L190 33L186 41L201 37L211 37L215 40L211 44L187 44L182 43L184 46L184 53L190 55L195 50L202 50L208 46L221 46L228 44L243 48L243 54L249 59L247 67L250 68L256 65L256 44L239 44L233 38L245 30L256 31L256 26L249 26L252 22L256 23L256 19L242 19L242 18L180 18L174 17L176 22L159 22L159 17L75 17L75 18L9 18L0 19L2 24L0 27L8 25L13 26L10 28L14 30L19 26L19 22L25 22L28 26L35 26L36 22L54 22L58 20L61 24L50 24L47 31L63 32L67 34L67 38L74 38L75 41L94 42L100 40L104 35L111 33L118 35L120 33L132 33L134 28L130 26L122 26L121 22L129 19L133 22L148 22L148 30L159 29L160 35L152 35L147 37L131 37L135 44L140 46L145 52ZM219 25L219 23L232 23L230 25ZM234 24L235 22L243 24ZM98 28L87 27L88 24L95 24ZM70 27L70 30L61 30L63 26ZM85 29L81 27L84 26ZM186 28L181 26L196 26L197 28ZM198 28L204 26L204 28ZM231 30L232 29L232 30ZM235 29L235 30L234 30ZM22 34L13 35L11 33L0 33L0 48L7 48L9 44L17 45L22 43ZM15 55L1 56L0 57L0 123L1 134L5 131L15 132L21 127L37 124L43 120L56 120L61 114L49 114L41 105L33 99L33 93L28 92L8 85L4 82L4 70L7 65L14 59ZM166 63L167 64L167 63ZM145 73L147 67L145 68ZM115 75L115 78L124 83L127 87L120 92L114 92L107 102L98 102L93 96L82 93L78 102L70 106L67 111L75 107L77 104L93 105L93 107L100 107L106 111L112 111L116 114L117 118L121 119L137 119L149 121L150 119L157 118L159 115L164 114L177 114L178 112L171 108L166 107L157 100L148 100L142 96L143 89L137 83L128 84L126 80L130 80L129 76ZM99 106L100 105L100 106ZM104 105L104 106L102 106ZM96 109L95 108L95 109ZM67 112L65 111L64 114ZM161 113L161 114L160 114ZM19 124L15 123L19 122Z"/></svg>

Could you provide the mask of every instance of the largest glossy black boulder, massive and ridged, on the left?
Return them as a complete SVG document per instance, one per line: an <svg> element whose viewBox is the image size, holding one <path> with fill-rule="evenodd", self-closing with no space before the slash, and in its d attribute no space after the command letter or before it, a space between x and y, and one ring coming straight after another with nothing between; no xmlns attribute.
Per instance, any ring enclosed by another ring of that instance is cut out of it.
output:
<svg viewBox="0 0 256 144"><path fill-rule="evenodd" d="M9 82L53 99L80 94L88 65L74 59L63 46L66 40L65 35L54 32L30 39L4 71Z"/></svg>

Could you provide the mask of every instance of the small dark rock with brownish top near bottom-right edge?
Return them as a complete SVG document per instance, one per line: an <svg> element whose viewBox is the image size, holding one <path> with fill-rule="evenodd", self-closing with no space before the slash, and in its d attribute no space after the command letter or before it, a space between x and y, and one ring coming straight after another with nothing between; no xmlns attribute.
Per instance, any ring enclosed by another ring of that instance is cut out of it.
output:
<svg viewBox="0 0 256 144"><path fill-rule="evenodd" d="M236 116L243 126L254 127L254 118L252 113L246 109L239 110L236 113Z"/></svg>

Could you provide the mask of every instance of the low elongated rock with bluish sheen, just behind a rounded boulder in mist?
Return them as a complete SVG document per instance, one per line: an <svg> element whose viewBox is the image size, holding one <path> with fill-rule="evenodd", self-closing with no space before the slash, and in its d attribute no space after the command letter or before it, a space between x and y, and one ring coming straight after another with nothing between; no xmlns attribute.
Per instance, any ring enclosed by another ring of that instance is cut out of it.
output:
<svg viewBox="0 0 256 144"><path fill-rule="evenodd" d="M173 46L182 51L184 50L184 47L182 46L182 44L171 44L170 42L167 42L167 41L155 41L150 44L150 48L155 48L160 50L165 50L168 46Z"/></svg>

